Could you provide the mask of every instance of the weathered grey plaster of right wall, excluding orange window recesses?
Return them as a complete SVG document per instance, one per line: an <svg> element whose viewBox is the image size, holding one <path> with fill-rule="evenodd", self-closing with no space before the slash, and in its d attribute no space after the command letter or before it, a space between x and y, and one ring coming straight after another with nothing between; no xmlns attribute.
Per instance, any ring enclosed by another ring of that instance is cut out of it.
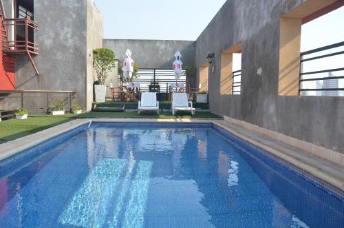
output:
<svg viewBox="0 0 344 228"><path fill-rule="evenodd" d="M343 98L278 95L280 17L303 2L226 1L196 41L196 75L207 54L215 52L208 82L211 112L344 153ZM221 95L221 52L240 41L241 95Z"/></svg>

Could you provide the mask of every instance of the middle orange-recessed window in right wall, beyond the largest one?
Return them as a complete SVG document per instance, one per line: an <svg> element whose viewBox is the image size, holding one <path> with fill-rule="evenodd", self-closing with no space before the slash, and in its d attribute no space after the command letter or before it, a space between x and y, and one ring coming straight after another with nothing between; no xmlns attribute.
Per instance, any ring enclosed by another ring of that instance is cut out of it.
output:
<svg viewBox="0 0 344 228"><path fill-rule="evenodd" d="M241 92L241 43L237 43L221 54L220 93L240 94Z"/></svg>

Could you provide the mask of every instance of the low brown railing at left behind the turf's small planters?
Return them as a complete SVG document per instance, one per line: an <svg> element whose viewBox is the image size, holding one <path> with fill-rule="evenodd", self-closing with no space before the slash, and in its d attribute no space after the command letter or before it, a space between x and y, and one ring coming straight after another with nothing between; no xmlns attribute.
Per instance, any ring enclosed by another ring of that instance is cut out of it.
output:
<svg viewBox="0 0 344 228"><path fill-rule="evenodd" d="M10 96L10 94L19 94L19 96ZM43 96L24 96L24 94L43 94ZM56 96L58 94L58 96ZM76 91L61 91L61 90L0 90L0 101L3 99L20 99L16 109L27 109L28 105L25 105L25 99L45 99L45 112L49 112L49 100L50 99L64 99L69 103L69 110L72 111L72 100L75 98ZM67 95L67 96L62 96ZM7 108L2 107L4 110ZM43 110L44 107L39 107L36 110Z"/></svg>

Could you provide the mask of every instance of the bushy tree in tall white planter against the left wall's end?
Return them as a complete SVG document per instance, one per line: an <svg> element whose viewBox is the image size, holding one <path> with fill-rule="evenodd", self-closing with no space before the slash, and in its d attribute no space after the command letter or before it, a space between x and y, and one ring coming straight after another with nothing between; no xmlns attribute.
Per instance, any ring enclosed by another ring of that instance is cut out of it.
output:
<svg viewBox="0 0 344 228"><path fill-rule="evenodd" d="M112 68L116 66L115 53L109 48L98 48L93 50L93 67L96 70L98 85L94 85L96 102L105 102L107 86L105 79Z"/></svg>

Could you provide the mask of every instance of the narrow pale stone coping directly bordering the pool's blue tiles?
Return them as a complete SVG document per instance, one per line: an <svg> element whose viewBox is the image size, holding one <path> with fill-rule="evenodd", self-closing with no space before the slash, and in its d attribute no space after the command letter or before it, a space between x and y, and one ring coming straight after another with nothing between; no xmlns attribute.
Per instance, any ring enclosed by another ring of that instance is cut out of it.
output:
<svg viewBox="0 0 344 228"><path fill-rule="evenodd" d="M88 124L90 121L96 122L96 123L116 123L116 122L118 123L125 123L125 122L131 122L131 123L211 123L213 125L216 125L217 127L221 127L222 129L226 130L228 133L233 134L234 136L237 136L242 141L246 141L247 143L250 143L251 145L255 145L259 147L260 149L264 150L264 152L268 152L270 155L276 156L277 158L294 165L295 167L301 169L301 171L304 170L305 172L308 172L312 176L319 178L320 180L323 180L325 183L328 183L338 188L341 191L344 190L344 180L335 178L334 177L335 175L327 174L326 172L323 172L321 169L319 169L319 167L315 167L313 165L310 166L306 163L303 163L300 160L297 160L297 158L294 158L288 154L284 154L283 152L279 151L278 149L274 147L264 145L264 143L260 143L259 141L256 141L254 138L245 136L244 134L237 132L235 129L230 128L230 126L224 125L223 123L226 121L222 122L223 120L217 120L217 119L215 120L214 119L189 119L189 118L178 118L178 119L84 118L84 119L76 119L73 121L69 121L67 123L63 123L61 125L50 127L41 132L36 132L34 134L30 134L22 138L17 138L14 141L1 144L0 145L0 160L4 160L6 158L9 158L10 156L14 156L15 154L18 154L24 151L25 149L30 149L31 147L34 147L36 145L39 145L40 143L48 141L51 138L59 136L65 132L69 132L72 129L76 129L77 127L80 127L82 125ZM252 133L256 134L255 132L252 132ZM270 138L270 140L274 141L273 138ZM292 148L292 146L288 144L286 145ZM7 150L7 152L5 153L1 152L3 149ZM297 148L294 148L294 149L299 151L299 149Z"/></svg>

